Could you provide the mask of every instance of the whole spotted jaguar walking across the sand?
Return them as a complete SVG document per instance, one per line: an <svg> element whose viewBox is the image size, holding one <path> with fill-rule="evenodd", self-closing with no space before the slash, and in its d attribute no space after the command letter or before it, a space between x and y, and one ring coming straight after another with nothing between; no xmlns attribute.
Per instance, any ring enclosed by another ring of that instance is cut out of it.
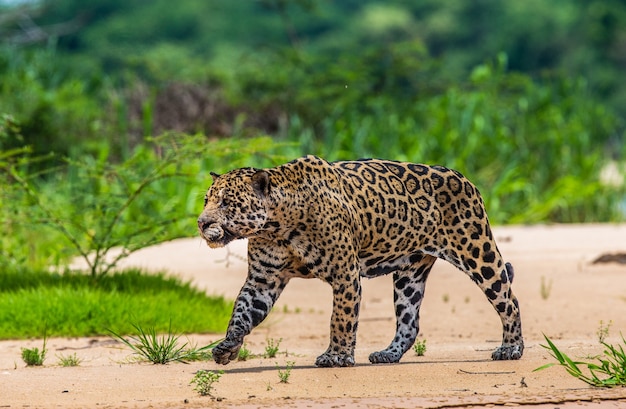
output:
<svg viewBox="0 0 626 409"><path fill-rule="evenodd" d="M200 234L210 247L247 238L249 261L226 338L213 350L216 362L236 359L289 280L303 277L333 288L330 345L316 365L354 365L361 278L384 274L393 274L396 334L369 360L398 362L417 336L426 279L438 258L466 273L499 314L502 345L492 358L522 356L513 267L502 260L478 190L459 172L307 156L212 176Z"/></svg>

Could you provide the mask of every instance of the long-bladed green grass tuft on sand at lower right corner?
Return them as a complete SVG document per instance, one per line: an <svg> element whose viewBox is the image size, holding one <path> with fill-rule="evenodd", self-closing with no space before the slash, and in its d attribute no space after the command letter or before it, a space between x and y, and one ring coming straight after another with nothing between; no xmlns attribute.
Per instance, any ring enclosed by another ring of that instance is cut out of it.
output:
<svg viewBox="0 0 626 409"><path fill-rule="evenodd" d="M612 388L626 385L626 353L622 345L613 346L601 342L605 347L603 355L597 358L597 363L573 361L565 353L561 352L556 345L544 335L548 345L541 345L550 351L550 355L557 363L543 365L535 371L559 365L565 368L567 373L591 386ZM622 336L622 342L626 346L626 339ZM580 367L586 367L589 374L583 372Z"/></svg>

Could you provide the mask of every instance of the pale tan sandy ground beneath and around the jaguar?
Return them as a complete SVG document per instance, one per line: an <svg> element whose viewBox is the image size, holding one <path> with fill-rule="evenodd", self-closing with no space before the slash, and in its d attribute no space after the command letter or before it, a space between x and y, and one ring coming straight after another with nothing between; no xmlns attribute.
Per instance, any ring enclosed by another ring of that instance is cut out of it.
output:
<svg viewBox="0 0 626 409"><path fill-rule="evenodd" d="M480 290L461 272L438 261L426 287L420 338L425 356L408 352L400 364L371 365L368 354L394 334L389 277L367 280L353 368L315 368L328 343L331 291L314 280L292 281L268 319L246 338L255 354L278 340L276 358L254 357L217 366L213 362L152 365L136 363L130 351L109 338L51 339L44 367L25 367L21 347L41 340L0 342L0 408L414 408L512 405L535 408L626 407L626 388L598 389L552 367L540 346L552 338L571 357L602 352L600 321L612 322L607 341L626 333L626 264L592 261L626 253L626 225L497 227L505 259L515 266L513 289L520 300L526 341L519 361L494 362L491 350L501 327ZM210 250L198 239L144 249L125 265L163 270L191 279L209 294L234 298L246 264L245 242ZM543 282L543 296L542 296ZM192 334L204 345L223 334ZM58 366L58 355L76 353L78 367ZM277 366L294 366L280 383ZM214 397L189 385L199 369L223 369Z"/></svg>

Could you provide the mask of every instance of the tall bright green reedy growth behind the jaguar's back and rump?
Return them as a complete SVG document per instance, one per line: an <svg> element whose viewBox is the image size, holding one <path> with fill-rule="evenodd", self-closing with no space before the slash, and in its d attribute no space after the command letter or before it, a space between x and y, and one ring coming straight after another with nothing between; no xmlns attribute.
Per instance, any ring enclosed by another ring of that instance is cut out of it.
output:
<svg viewBox="0 0 626 409"><path fill-rule="evenodd" d="M335 89L348 84L331 75L327 83ZM398 80L393 70L387 75L384 84ZM606 146L623 139L615 133L620 121L589 99L584 81L532 81L506 72L504 55L477 67L463 88L419 95L419 74L413 78L411 100L363 90L359 101L303 102L306 115L315 112L315 119L292 117L288 138L329 159L374 156L457 169L479 187L495 223L623 219L625 184L608 186L599 176L607 164ZM346 93L355 86L349 84ZM318 121L316 127L306 125Z"/></svg>

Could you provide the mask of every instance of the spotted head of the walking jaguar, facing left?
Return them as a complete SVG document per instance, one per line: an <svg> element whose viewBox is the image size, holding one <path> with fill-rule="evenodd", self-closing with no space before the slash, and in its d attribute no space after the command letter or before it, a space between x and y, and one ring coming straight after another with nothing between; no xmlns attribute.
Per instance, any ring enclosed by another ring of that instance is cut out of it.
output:
<svg viewBox="0 0 626 409"><path fill-rule="evenodd" d="M267 221L269 174L254 168L235 169L224 175L211 172L213 185L204 197L198 217L200 236L211 248L254 236Z"/></svg>

